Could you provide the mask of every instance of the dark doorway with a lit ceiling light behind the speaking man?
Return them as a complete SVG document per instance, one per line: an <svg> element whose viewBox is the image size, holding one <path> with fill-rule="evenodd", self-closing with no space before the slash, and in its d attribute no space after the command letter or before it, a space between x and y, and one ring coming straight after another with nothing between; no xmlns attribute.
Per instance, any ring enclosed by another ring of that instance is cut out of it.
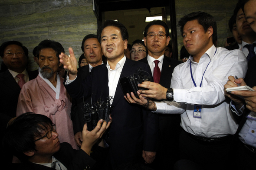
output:
<svg viewBox="0 0 256 170"><path fill-rule="evenodd" d="M128 43L143 39L146 16L162 16L170 31L173 58L178 59L174 0L93 0L98 26L106 19L118 19L129 33Z"/></svg>

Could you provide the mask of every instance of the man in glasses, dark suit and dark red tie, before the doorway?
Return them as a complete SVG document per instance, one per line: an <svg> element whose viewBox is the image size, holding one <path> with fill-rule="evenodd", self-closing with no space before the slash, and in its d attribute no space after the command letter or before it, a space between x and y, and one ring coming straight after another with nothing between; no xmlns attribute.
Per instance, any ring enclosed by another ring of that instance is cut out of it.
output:
<svg viewBox="0 0 256 170"><path fill-rule="evenodd" d="M181 61L165 56L164 52L169 44L169 28L164 21L154 20L144 29L144 44L148 49L148 56L140 61L149 64L154 78L154 82L161 84L163 87L170 88L171 77L174 67L181 64ZM181 116L160 115L160 145L159 152L156 156L156 166L161 169L173 167L178 159L179 152L176 147L179 143L179 133L181 132ZM169 135L172 134L172 135ZM170 164L165 164L169 162Z"/></svg>

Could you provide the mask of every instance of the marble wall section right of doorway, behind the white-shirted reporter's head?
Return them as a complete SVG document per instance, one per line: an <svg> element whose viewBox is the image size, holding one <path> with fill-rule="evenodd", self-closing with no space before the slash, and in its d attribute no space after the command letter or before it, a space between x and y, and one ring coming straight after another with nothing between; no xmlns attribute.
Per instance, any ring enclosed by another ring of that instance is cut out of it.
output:
<svg viewBox="0 0 256 170"><path fill-rule="evenodd" d="M232 36L228 22L238 0L175 0L176 21L185 15L203 11L211 14L217 22L217 47L224 47L226 38ZM183 46L180 28L177 28L178 50Z"/></svg>

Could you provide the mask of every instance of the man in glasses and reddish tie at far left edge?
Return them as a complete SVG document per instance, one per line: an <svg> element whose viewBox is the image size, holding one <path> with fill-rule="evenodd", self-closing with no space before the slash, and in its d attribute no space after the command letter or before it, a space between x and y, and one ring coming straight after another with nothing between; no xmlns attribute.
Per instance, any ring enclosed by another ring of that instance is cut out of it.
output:
<svg viewBox="0 0 256 170"><path fill-rule="evenodd" d="M8 68L0 73L1 134L4 133L10 119L16 117L21 87L24 83L36 78L36 74L26 70L28 52L28 49L17 41L4 42L0 46L0 56ZM3 159L11 161L11 157L8 156Z"/></svg>

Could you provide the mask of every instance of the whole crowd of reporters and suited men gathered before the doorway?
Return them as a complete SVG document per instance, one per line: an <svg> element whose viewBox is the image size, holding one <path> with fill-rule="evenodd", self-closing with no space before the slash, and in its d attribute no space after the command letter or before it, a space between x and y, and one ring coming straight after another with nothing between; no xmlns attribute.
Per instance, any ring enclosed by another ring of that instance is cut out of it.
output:
<svg viewBox="0 0 256 170"><path fill-rule="evenodd" d="M83 38L82 55L43 40L33 50L35 71L27 70L29 51L21 42L4 42L3 164L11 170L256 169L255 6L256 0L236 4L225 48L216 47L217 23L209 13L182 17L181 61L172 58L161 20L149 22L143 41L132 45L122 23L106 20ZM120 80L128 78L128 87L138 70L147 80L138 91L125 91ZM226 91L243 86L252 91ZM105 117L95 118L101 111Z"/></svg>

